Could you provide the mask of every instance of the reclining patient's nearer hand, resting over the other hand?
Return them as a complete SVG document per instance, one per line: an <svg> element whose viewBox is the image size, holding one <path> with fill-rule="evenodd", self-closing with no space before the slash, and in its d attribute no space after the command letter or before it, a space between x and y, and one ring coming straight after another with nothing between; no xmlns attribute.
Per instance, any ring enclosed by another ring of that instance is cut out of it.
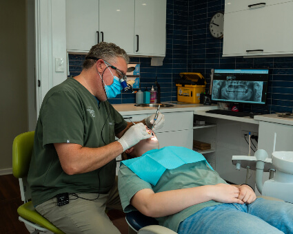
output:
<svg viewBox="0 0 293 234"><path fill-rule="evenodd" d="M240 189L230 184L212 185L212 200L216 202L244 204L239 195Z"/></svg>

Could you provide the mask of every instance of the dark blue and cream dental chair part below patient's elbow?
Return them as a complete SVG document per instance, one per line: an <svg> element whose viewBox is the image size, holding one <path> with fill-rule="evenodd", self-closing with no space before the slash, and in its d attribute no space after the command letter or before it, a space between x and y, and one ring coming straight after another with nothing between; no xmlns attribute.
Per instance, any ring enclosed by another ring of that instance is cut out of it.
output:
<svg viewBox="0 0 293 234"><path fill-rule="evenodd" d="M128 234L175 234L169 228L160 226L154 217L148 217L139 211L131 211L126 213L126 222L128 223Z"/></svg>

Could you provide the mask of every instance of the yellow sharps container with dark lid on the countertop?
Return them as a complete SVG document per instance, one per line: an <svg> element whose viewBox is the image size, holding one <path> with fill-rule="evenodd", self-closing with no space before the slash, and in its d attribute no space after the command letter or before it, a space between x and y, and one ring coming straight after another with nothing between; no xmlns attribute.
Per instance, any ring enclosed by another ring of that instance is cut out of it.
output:
<svg viewBox="0 0 293 234"><path fill-rule="evenodd" d="M205 92L205 78L201 73L181 72L176 80L177 100L184 103L199 103L200 95Z"/></svg>

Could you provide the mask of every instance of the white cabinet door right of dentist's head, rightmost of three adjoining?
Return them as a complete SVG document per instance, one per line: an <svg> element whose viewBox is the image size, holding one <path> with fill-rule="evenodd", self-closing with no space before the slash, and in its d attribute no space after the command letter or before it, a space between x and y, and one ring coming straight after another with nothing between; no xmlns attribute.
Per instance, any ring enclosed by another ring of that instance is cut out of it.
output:
<svg viewBox="0 0 293 234"><path fill-rule="evenodd" d="M166 0L135 0L134 53L165 56Z"/></svg>

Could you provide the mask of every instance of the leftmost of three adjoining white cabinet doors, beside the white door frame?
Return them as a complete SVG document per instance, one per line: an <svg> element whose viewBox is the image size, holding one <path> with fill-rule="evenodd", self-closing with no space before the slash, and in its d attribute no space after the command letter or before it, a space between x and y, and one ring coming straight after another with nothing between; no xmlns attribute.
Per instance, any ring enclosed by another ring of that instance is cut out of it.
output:
<svg viewBox="0 0 293 234"><path fill-rule="evenodd" d="M99 0L66 0L66 49L88 52L98 42Z"/></svg>

